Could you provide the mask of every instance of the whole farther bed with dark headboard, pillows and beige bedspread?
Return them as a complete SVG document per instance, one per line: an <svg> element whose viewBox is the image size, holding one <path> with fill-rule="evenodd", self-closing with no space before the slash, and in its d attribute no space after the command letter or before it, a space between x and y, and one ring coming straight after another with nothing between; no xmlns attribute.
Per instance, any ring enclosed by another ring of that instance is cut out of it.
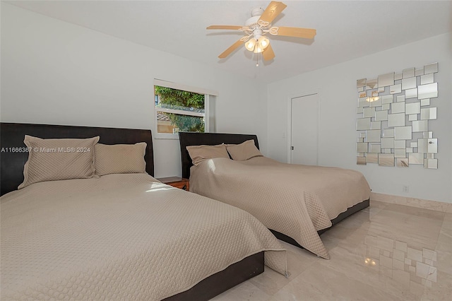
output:
<svg viewBox="0 0 452 301"><path fill-rule="evenodd" d="M369 206L369 184L360 172L279 163L261 155L256 135L179 132L179 141L190 191L248 211L278 239L325 259L319 235ZM248 155L241 158L237 150L245 146ZM215 151L204 154L204 148Z"/></svg>

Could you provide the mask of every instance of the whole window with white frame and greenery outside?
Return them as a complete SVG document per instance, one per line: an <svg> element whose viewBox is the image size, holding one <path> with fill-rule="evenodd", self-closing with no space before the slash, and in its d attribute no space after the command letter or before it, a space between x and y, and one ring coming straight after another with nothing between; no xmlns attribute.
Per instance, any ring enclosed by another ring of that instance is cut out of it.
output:
<svg viewBox="0 0 452 301"><path fill-rule="evenodd" d="M178 138L179 131L215 131L217 93L154 80L155 138Z"/></svg>

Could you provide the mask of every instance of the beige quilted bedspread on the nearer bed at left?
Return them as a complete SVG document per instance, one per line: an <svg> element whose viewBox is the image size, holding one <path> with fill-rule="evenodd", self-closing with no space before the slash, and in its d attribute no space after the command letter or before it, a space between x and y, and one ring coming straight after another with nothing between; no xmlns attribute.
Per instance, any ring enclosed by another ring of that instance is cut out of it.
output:
<svg viewBox="0 0 452 301"><path fill-rule="evenodd" d="M256 218L145 174L41 182L1 199L1 300L160 300L285 251Z"/></svg>

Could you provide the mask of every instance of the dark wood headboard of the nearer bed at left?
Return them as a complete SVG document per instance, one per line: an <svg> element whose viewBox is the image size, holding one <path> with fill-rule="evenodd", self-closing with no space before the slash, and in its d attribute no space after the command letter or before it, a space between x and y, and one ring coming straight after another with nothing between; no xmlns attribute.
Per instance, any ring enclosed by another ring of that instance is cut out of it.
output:
<svg viewBox="0 0 452 301"><path fill-rule="evenodd" d="M99 143L148 144L145 153L146 172L154 175L154 153L152 133L149 129L115 129L90 126L61 126L49 124L0 123L0 165L1 195L16 190L23 182L23 166L28 160L28 153L16 152L26 148L23 143L25 135L39 138L90 138L100 136ZM11 150L11 151L10 151Z"/></svg>

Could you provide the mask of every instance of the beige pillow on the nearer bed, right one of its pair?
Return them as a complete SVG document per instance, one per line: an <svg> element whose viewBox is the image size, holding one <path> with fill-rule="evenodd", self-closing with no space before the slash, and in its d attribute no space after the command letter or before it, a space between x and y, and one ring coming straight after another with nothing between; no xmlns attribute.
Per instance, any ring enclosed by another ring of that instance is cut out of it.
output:
<svg viewBox="0 0 452 301"><path fill-rule="evenodd" d="M135 144L97 143L95 146L96 175L131 174L146 172L145 142Z"/></svg>

